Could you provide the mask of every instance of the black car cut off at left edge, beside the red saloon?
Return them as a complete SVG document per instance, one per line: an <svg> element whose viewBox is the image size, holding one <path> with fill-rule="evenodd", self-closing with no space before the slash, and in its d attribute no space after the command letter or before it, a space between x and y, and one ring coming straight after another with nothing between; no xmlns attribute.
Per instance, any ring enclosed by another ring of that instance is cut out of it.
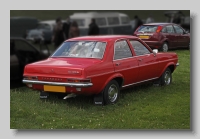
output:
<svg viewBox="0 0 200 139"><path fill-rule="evenodd" d="M10 80L22 79L24 66L47 58L48 53L36 49L23 38L10 38Z"/></svg>

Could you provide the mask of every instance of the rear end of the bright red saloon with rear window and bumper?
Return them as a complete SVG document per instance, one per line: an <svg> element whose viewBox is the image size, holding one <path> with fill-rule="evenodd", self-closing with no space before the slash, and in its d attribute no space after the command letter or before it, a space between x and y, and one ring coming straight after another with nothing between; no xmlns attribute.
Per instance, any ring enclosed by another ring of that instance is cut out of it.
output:
<svg viewBox="0 0 200 139"><path fill-rule="evenodd" d="M45 92L98 93L86 69L102 63L105 47L98 41L64 42L50 58L26 65L23 83Z"/></svg>

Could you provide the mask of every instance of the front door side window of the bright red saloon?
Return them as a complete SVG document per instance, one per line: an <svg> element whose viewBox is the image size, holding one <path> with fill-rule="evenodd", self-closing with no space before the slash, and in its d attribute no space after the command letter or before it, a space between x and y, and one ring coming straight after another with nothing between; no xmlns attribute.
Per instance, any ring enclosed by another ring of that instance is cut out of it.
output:
<svg viewBox="0 0 200 139"><path fill-rule="evenodd" d="M133 46L133 49L135 51L135 54L137 56L139 55L145 55L145 54L150 54L151 52L139 41L130 41L131 45Z"/></svg>

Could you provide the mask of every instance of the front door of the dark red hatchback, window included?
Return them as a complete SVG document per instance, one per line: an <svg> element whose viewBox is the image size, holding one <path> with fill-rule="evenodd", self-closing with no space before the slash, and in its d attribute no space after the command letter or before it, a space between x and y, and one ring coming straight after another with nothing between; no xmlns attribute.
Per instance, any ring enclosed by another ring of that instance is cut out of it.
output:
<svg viewBox="0 0 200 139"><path fill-rule="evenodd" d="M188 47L189 37L184 33L184 30L178 25L174 25L175 33L178 39L178 47Z"/></svg>

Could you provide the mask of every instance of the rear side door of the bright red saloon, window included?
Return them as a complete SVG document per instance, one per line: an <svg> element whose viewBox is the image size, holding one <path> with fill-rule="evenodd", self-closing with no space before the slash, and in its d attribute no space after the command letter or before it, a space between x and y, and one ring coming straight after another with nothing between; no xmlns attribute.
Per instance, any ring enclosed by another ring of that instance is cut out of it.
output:
<svg viewBox="0 0 200 139"><path fill-rule="evenodd" d="M137 82L138 60L133 57L126 40L115 42L113 66L116 73L123 75L125 86Z"/></svg>

